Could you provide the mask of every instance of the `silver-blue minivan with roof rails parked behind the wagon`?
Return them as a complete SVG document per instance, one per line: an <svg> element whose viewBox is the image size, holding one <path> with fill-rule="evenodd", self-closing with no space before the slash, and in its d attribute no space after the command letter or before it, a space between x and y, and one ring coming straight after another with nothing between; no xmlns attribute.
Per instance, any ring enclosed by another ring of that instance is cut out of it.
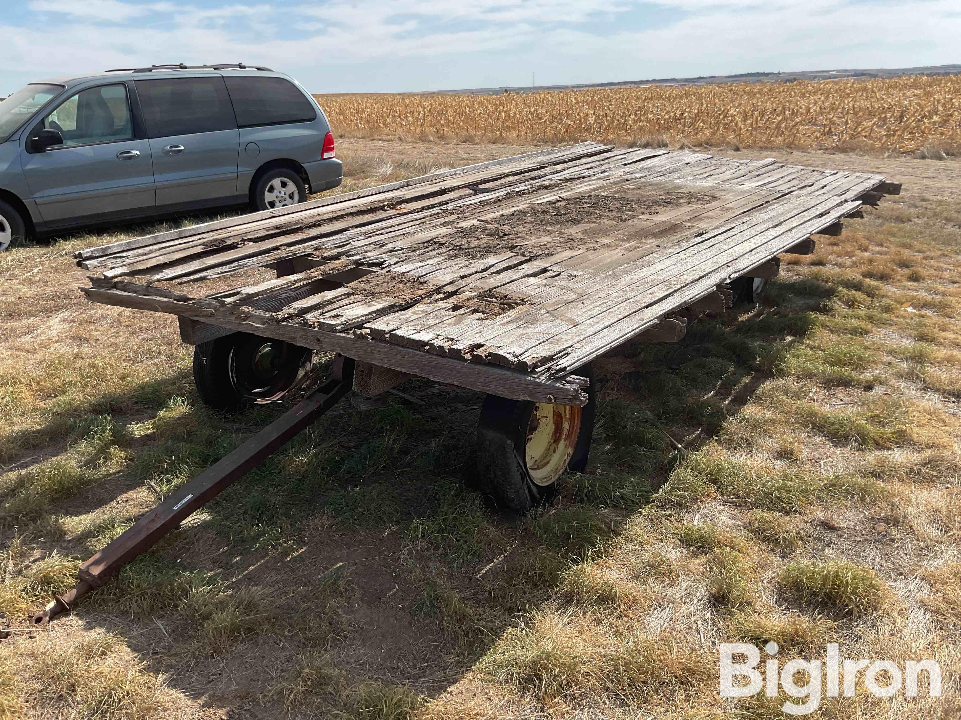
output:
<svg viewBox="0 0 961 720"><path fill-rule="evenodd" d="M323 110L267 67L109 70L0 102L0 250L79 226L282 207L342 179Z"/></svg>

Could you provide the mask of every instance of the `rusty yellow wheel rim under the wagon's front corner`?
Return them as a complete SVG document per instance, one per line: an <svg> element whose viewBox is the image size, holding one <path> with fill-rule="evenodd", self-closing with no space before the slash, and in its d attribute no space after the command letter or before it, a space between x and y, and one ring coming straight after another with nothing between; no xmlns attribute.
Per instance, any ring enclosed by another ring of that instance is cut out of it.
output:
<svg viewBox="0 0 961 720"><path fill-rule="evenodd" d="M534 403L524 449L530 479L536 485L553 485L567 468L578 443L580 415L577 405Z"/></svg>

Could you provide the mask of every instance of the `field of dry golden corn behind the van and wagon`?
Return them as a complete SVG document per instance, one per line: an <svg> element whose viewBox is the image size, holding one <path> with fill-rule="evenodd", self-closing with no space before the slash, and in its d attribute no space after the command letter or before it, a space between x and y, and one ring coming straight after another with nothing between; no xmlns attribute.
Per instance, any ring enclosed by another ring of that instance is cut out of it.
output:
<svg viewBox="0 0 961 720"><path fill-rule="evenodd" d="M500 95L316 95L334 132L467 142L961 147L961 76Z"/></svg>

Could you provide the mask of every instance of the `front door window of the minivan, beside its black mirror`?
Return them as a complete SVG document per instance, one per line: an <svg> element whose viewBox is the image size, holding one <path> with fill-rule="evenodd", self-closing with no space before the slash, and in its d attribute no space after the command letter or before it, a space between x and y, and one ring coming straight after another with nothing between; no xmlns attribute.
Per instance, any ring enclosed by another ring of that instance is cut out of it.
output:
<svg viewBox="0 0 961 720"><path fill-rule="evenodd" d="M63 135L63 144L57 148L132 139L126 85L81 90L43 118L43 128Z"/></svg>

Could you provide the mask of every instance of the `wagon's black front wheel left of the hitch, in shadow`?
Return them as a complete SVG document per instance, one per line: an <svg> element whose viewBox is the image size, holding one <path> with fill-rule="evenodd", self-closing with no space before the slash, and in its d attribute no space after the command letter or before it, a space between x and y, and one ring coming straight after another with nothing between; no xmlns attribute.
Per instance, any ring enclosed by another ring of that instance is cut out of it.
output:
<svg viewBox="0 0 961 720"><path fill-rule="evenodd" d="M234 332L193 348L193 382L208 407L237 413L275 402L310 369L310 350Z"/></svg>

